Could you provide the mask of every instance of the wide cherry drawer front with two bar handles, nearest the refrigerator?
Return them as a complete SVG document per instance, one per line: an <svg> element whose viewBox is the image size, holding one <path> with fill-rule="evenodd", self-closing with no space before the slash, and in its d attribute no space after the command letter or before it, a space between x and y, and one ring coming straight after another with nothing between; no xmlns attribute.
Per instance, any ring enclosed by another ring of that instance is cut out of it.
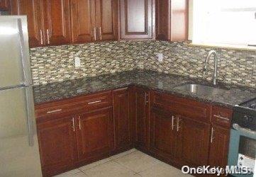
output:
<svg viewBox="0 0 256 177"><path fill-rule="evenodd" d="M37 118L45 116L57 116L63 113L78 113L79 110L91 111L99 108L106 108L112 105L111 91L104 93L94 93L77 98L69 98L63 101L52 103L43 103L35 106L35 115Z"/></svg>

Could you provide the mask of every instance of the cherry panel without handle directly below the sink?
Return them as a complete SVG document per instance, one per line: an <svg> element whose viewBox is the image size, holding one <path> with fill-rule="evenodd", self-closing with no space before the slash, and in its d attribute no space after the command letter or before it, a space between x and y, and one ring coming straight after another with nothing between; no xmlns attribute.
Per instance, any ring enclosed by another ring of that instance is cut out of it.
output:
<svg viewBox="0 0 256 177"><path fill-rule="evenodd" d="M154 106L185 117L194 118L195 120L211 122L211 105L207 103L200 103L159 92L153 92L151 98Z"/></svg>

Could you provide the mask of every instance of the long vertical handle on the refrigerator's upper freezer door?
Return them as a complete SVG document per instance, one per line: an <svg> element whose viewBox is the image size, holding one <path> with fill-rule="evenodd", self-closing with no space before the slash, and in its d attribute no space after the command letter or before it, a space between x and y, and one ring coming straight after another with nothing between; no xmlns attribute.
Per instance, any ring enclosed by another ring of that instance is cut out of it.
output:
<svg viewBox="0 0 256 177"><path fill-rule="evenodd" d="M24 83L26 86L30 86L32 84L32 78L30 74L30 59L29 59L29 54L28 51L28 39L24 38L23 34L23 26L22 26L22 21L21 18L18 18L18 34L19 34L19 42L21 45L21 59L22 59L22 64L23 64L23 74L24 74ZM26 49L27 48L27 49Z"/></svg>

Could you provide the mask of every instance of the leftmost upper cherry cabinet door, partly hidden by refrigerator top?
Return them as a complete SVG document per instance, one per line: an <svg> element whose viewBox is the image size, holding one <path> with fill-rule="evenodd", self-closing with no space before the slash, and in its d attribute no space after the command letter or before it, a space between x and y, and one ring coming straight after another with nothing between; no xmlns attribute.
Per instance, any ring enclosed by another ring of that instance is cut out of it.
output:
<svg viewBox="0 0 256 177"><path fill-rule="evenodd" d="M43 8L41 0L12 0L11 15L26 15L28 18L28 40L30 47L44 44Z"/></svg>

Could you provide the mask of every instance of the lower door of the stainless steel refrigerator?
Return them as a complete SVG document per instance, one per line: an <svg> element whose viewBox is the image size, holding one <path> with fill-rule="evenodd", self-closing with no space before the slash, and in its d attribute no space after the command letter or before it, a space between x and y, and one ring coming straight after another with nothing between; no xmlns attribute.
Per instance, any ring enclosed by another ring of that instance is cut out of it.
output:
<svg viewBox="0 0 256 177"><path fill-rule="evenodd" d="M32 87L0 91L0 176L42 176Z"/></svg>

